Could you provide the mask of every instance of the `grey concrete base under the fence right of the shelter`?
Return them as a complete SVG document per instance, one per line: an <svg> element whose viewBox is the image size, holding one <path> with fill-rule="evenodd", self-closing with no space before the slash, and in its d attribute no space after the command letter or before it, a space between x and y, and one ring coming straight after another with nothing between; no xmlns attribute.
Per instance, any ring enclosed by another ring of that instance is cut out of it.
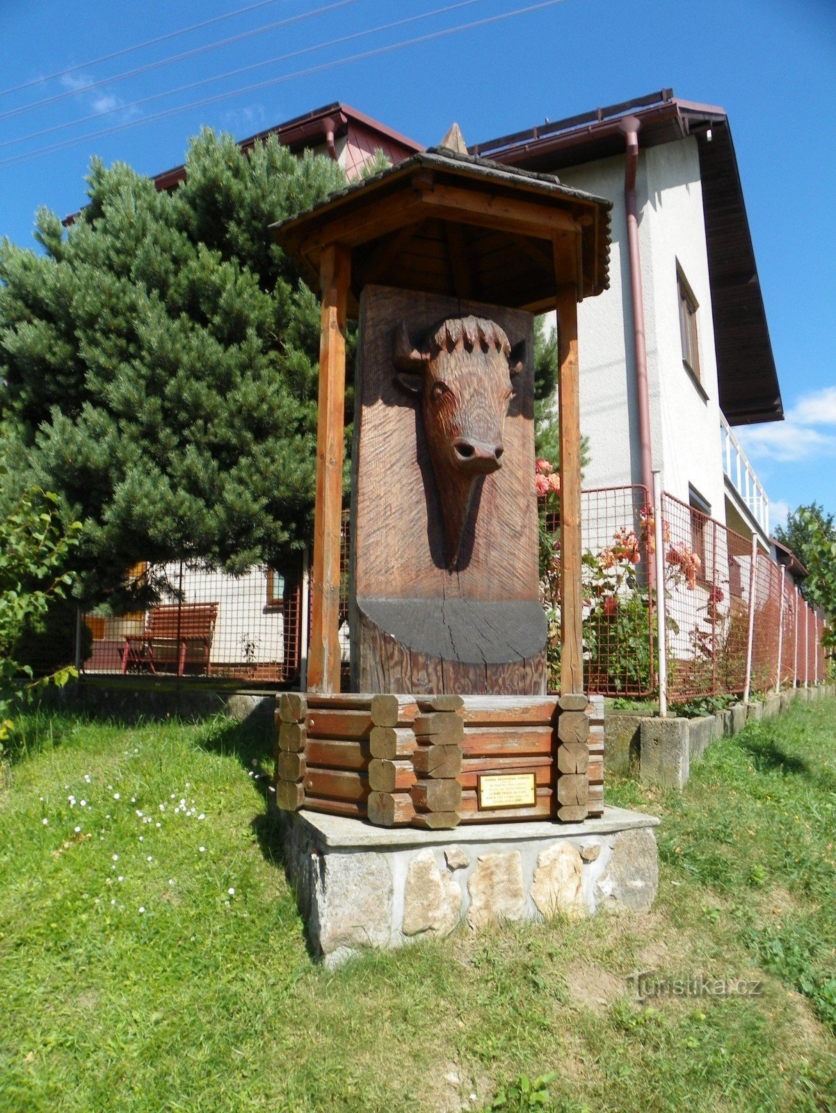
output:
<svg viewBox="0 0 836 1113"><path fill-rule="evenodd" d="M736 703L700 719L660 719L608 712L604 718L604 766L610 772L636 771L642 785L683 788L691 766L712 741L736 735L749 719L773 719L795 702L833 696L833 684L770 692L763 700Z"/></svg>

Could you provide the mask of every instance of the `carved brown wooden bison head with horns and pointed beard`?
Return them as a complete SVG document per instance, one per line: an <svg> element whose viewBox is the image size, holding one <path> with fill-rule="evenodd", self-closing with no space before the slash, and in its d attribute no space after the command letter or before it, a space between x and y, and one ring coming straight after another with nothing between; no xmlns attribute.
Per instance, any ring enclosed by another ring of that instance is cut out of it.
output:
<svg viewBox="0 0 836 1113"><path fill-rule="evenodd" d="M524 363L525 341L512 349L503 329L482 317L450 317L415 345L404 322L395 329L395 380L421 398L450 568L476 480L502 466L512 380Z"/></svg>

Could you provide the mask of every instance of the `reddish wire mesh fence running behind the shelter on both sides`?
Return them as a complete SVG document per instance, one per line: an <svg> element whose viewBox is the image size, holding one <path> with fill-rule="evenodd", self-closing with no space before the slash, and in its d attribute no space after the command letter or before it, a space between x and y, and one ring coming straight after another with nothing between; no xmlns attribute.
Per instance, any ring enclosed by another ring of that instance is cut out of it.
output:
<svg viewBox="0 0 836 1113"><path fill-rule="evenodd" d="M584 491L581 512L590 692L632 698L658 692L657 545L662 553L668 700L768 691L826 678L823 618L751 539L667 493L657 523L640 484ZM541 500L540 519L549 681L555 689L560 515L554 493ZM340 613L346 683L348 534L346 513ZM309 597L303 560L284 569L255 567L238 577L195 561L140 564L129 575L140 584L142 579L163 584L154 605L120 615L104 610L76 615L65 608L46 632L29 639L24 663L48 672L75 661L82 677L304 682Z"/></svg>

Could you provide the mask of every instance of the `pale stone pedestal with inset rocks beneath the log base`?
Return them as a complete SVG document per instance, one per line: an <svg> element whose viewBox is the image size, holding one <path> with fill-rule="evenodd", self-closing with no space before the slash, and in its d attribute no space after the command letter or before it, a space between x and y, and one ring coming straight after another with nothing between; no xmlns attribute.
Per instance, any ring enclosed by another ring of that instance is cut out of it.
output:
<svg viewBox="0 0 836 1113"><path fill-rule="evenodd" d="M648 912L655 816L604 808L582 824L385 829L278 812L285 861L314 953L336 965L368 947L519 919Z"/></svg>

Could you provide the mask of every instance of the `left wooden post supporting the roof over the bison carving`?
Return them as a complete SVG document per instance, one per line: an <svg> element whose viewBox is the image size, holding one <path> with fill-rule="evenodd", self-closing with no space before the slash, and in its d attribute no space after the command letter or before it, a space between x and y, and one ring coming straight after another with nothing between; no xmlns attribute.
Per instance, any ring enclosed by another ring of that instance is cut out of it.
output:
<svg viewBox="0 0 836 1113"><path fill-rule="evenodd" d="M351 252L328 244L322 253L319 411L316 427L316 509L307 687L340 691L340 539L343 512L345 427L345 318Z"/></svg>

